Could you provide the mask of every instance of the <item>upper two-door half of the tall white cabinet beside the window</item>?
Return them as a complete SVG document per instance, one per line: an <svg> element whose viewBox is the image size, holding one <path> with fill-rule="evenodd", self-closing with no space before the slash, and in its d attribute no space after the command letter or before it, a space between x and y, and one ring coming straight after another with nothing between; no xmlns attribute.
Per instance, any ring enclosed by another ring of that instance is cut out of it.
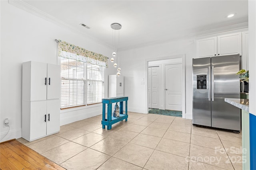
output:
<svg viewBox="0 0 256 170"><path fill-rule="evenodd" d="M22 100L60 98L60 66L29 61L22 64Z"/></svg>

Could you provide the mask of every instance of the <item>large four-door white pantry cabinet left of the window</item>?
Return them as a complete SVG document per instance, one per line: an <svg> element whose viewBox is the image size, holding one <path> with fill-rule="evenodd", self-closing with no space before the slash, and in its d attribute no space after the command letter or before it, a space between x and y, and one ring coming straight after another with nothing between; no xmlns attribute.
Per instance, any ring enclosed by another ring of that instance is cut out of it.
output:
<svg viewBox="0 0 256 170"><path fill-rule="evenodd" d="M60 66L22 63L22 138L34 141L60 131Z"/></svg>

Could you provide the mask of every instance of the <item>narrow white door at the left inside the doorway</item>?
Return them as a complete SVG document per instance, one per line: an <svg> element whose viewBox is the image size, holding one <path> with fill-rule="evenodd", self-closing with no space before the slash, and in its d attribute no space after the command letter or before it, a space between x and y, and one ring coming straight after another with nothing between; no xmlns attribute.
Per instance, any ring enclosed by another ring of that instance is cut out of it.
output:
<svg viewBox="0 0 256 170"><path fill-rule="evenodd" d="M159 109L159 94L158 94L158 84L159 84L159 66L151 67L151 108Z"/></svg>

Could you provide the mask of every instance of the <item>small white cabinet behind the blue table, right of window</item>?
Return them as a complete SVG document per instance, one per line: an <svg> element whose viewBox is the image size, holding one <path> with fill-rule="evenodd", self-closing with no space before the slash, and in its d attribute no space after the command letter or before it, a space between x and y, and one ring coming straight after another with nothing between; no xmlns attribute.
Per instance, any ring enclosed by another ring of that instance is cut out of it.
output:
<svg viewBox="0 0 256 170"><path fill-rule="evenodd" d="M108 97L124 96L124 76L108 76Z"/></svg>

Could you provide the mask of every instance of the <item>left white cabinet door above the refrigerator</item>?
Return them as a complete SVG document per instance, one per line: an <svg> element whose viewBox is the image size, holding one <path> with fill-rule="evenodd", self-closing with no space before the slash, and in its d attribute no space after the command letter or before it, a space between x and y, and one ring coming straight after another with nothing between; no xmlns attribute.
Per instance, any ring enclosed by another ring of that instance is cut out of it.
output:
<svg viewBox="0 0 256 170"><path fill-rule="evenodd" d="M196 40L196 56L212 57L217 53L217 37Z"/></svg>

